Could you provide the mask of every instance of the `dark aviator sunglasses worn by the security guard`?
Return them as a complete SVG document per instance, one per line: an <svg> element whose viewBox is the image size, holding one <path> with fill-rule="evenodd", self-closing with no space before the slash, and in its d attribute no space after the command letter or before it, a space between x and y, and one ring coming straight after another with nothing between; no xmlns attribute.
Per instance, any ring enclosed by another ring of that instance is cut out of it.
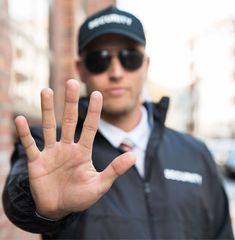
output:
<svg viewBox="0 0 235 240"><path fill-rule="evenodd" d="M97 50L88 53L84 63L91 73L98 74L109 68L112 56L109 50ZM124 48L117 53L117 57L125 70L135 71L143 64L144 54L134 48Z"/></svg>

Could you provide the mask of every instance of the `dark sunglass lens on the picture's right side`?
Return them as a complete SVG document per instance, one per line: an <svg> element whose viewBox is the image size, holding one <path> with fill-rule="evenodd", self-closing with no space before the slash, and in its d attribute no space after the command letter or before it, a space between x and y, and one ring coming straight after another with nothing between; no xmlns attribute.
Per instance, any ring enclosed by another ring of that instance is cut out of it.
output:
<svg viewBox="0 0 235 240"><path fill-rule="evenodd" d="M122 49L119 53L119 59L125 69L134 71L142 65L144 55L137 49Z"/></svg>

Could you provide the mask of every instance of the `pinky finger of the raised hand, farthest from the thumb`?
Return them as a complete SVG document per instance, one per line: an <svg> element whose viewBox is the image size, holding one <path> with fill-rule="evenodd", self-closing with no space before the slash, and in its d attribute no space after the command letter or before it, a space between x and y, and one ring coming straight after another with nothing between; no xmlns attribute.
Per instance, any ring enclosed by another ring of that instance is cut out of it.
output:
<svg viewBox="0 0 235 240"><path fill-rule="evenodd" d="M15 119L16 130L20 140L25 148L28 161L34 161L38 158L40 151L38 150L35 140L33 139L27 120L23 116L18 116Z"/></svg>

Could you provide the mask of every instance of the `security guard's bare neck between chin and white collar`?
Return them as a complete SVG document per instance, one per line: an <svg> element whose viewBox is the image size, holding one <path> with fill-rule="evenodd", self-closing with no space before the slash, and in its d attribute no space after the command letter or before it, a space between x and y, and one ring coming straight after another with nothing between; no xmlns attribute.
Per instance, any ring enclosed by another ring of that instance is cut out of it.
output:
<svg viewBox="0 0 235 240"><path fill-rule="evenodd" d="M102 113L102 118L110 124L129 132L134 129L141 119L141 108L138 107L133 112L127 112L120 115L110 115Z"/></svg>

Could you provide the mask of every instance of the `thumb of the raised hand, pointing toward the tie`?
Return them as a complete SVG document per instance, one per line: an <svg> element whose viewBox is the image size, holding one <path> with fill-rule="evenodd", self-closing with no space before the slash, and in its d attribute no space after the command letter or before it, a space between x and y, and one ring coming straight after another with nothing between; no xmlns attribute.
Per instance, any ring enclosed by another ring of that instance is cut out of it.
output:
<svg viewBox="0 0 235 240"><path fill-rule="evenodd" d="M132 152L116 157L100 174L102 192L107 192L113 182L130 169L135 164L135 161L136 157Z"/></svg>

